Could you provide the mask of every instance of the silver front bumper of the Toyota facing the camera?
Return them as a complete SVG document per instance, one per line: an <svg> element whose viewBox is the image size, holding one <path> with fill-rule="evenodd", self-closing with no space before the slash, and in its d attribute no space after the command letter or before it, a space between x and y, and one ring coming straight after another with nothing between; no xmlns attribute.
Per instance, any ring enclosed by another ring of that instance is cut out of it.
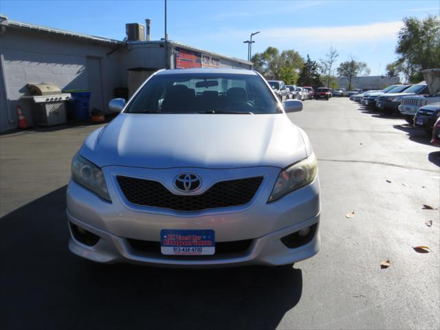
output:
<svg viewBox="0 0 440 330"><path fill-rule="evenodd" d="M261 168L197 170L204 171L204 178L209 177L209 172L216 172L217 175L219 171L230 177L241 175L252 177L257 173L261 174ZM69 182L67 219L70 223L100 238L94 246L85 245L75 239L71 228L69 249L78 256L100 263L128 262L173 267L284 265L310 258L319 250L318 230L308 243L298 248L287 248L281 242L281 238L311 225L319 225L318 178L309 186L267 204L279 170L279 168L264 168L264 179L259 190L254 199L244 206L199 212L177 212L137 206L124 199L115 181L115 173L139 176L139 168L118 168L118 166L103 168L112 203L103 201L74 181ZM181 169L142 169L141 174L142 177L152 177L152 172L155 171L160 171L164 177L173 178L174 173L178 173ZM168 256L160 252L137 250L130 244L131 240L157 243L162 229L212 229L215 232L216 243L243 240L250 240L252 243L241 252L212 256Z"/></svg>

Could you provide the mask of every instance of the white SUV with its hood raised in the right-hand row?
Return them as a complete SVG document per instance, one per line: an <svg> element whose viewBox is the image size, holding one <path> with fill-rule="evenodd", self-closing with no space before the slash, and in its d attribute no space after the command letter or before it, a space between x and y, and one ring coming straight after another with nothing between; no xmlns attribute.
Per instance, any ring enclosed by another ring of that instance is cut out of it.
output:
<svg viewBox="0 0 440 330"><path fill-rule="evenodd" d="M399 111L406 122L413 123L414 115L423 105L440 102L440 69L426 69L422 71L428 85L428 95L404 96L399 104Z"/></svg>

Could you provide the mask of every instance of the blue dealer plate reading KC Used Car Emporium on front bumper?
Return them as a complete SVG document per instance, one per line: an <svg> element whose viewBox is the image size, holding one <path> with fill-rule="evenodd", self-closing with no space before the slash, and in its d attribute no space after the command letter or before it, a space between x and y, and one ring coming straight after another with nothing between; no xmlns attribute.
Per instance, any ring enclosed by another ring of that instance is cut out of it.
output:
<svg viewBox="0 0 440 330"><path fill-rule="evenodd" d="M160 231L160 252L185 256L214 254L214 230L162 229Z"/></svg>

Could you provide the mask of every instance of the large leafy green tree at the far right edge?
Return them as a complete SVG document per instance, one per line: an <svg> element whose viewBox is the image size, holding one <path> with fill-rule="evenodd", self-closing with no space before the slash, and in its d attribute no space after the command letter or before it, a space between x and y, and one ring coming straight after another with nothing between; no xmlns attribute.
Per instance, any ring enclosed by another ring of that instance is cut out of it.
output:
<svg viewBox="0 0 440 330"><path fill-rule="evenodd" d="M404 18L395 51L394 65L406 80L414 83L422 80L422 69L440 67L440 19L435 16Z"/></svg>

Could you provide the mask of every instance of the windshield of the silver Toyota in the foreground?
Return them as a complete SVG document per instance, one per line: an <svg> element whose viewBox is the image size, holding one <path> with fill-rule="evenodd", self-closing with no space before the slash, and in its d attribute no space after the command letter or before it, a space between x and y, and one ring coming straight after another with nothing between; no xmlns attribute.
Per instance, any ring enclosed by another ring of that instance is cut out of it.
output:
<svg viewBox="0 0 440 330"><path fill-rule="evenodd" d="M157 74L125 113L281 113L260 76Z"/></svg>

